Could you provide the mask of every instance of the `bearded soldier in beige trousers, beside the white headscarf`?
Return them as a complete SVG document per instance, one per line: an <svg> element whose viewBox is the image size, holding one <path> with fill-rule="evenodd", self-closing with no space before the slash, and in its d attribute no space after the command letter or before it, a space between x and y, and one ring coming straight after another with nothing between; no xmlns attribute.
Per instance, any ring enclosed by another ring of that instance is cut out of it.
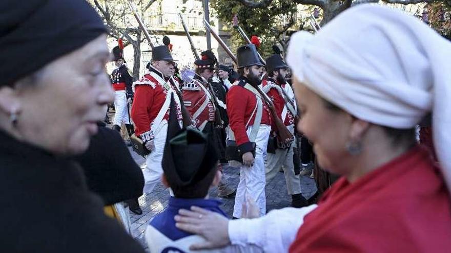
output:
<svg viewBox="0 0 451 253"><path fill-rule="evenodd" d="M286 128L294 135L294 123L296 113L296 102L291 86L286 83L288 66L279 54L272 55L266 59L268 68L268 79L263 80L264 93L268 94L274 103L277 115L282 119ZM272 134L275 134L272 131ZM266 167L266 181L273 179L280 167L285 174L286 189L292 196L292 206L300 208L306 205L306 200L301 194L301 183L299 175L295 174L293 163L293 147L295 142L287 146L274 148L274 153L268 152Z"/></svg>

